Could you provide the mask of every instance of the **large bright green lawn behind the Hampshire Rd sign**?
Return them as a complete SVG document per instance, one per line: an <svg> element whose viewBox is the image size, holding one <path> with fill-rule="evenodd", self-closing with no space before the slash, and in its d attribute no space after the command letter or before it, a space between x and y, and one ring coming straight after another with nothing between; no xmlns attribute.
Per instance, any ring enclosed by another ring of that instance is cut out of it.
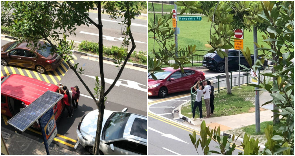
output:
<svg viewBox="0 0 295 156"><path fill-rule="evenodd" d="M150 4L150 3L149 3ZM165 5L165 7L168 5ZM160 17L161 14L156 14L156 16ZM164 15L165 16L165 15ZM181 15L181 16L192 16L192 15ZM153 18L152 14L149 14L149 23L150 18ZM170 26L172 27L172 21L170 23ZM178 47L186 47L188 45L196 45L197 50L209 50L209 48L205 47L204 44L208 44L209 37L210 37L210 27L211 22L208 22L208 18L206 16L202 16L201 21L178 21L177 27L180 28L180 34L178 34ZM262 32L257 32L258 36L258 44L261 45L263 42L262 38ZM148 54L152 57L152 49L153 49L153 42L154 40L150 37L153 37L153 33L148 33ZM170 44L174 44L174 38L172 41L169 41ZM234 43L232 43L234 44ZM168 45L168 43L167 43ZM253 47L253 32L249 32L247 30L244 30L244 49L246 47L249 47L251 54L254 54L254 47ZM266 44L264 44L265 47L268 47ZM159 49L158 43L155 43L155 50L158 51ZM179 48L178 48L179 49ZM207 51L199 51L196 52L198 55L204 55L207 54ZM260 51L258 51L258 54L262 54Z"/></svg>

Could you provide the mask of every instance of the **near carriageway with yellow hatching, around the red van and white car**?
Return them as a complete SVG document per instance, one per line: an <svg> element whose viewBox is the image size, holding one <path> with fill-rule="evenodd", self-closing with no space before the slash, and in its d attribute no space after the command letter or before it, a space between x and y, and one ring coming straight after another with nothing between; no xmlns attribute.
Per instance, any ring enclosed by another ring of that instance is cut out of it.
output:
<svg viewBox="0 0 295 156"><path fill-rule="evenodd" d="M1 38L1 45L8 43L7 39ZM94 91L95 76L99 76L99 62L95 57L86 57L84 55L74 53L74 62L82 65L85 69L84 73L81 74L84 82L89 86L91 91ZM105 87L109 88L111 83L117 76L118 69L115 67L113 62L104 60L104 77L105 77ZM53 141L53 145L59 145L69 150L75 150L80 154L87 154L81 145L77 142L76 128L81 118L88 112L97 109L94 100L90 97L90 94L86 91L85 87L76 77L74 72L69 69L68 65L63 62L55 71L46 72L45 74L39 74L35 72L34 69L20 68L16 66L1 66L1 76L6 76L10 74L22 74L27 77L32 77L34 79L40 79L41 81L48 82L57 85L62 82L63 85L69 87L74 87L77 85L80 89L80 99L78 109L73 112L73 117L66 118L67 110L64 111L60 121L57 123L58 135ZM126 65L123 70L119 81L116 83L111 92L107 95L107 100L105 102L106 109L112 111L122 111L125 107L128 108L127 112L147 115L147 71L143 68L133 67L131 65ZM1 117L1 126L15 131L15 129L6 125L4 121L6 117ZM39 142L43 142L40 132L29 128L22 133L27 137L30 137Z"/></svg>

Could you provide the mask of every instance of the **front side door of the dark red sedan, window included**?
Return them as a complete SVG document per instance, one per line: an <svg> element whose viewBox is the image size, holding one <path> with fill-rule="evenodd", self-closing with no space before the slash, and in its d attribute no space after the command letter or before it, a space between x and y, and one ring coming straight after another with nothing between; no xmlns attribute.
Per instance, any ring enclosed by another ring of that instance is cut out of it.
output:
<svg viewBox="0 0 295 156"><path fill-rule="evenodd" d="M174 79L174 80L171 80ZM180 70L172 73L167 79L165 86L168 88L168 93L183 91L183 79Z"/></svg>

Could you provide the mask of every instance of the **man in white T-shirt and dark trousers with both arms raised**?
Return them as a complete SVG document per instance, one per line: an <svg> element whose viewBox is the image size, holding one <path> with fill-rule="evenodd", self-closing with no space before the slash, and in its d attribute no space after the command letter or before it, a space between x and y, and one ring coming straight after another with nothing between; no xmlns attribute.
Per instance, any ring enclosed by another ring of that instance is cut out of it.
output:
<svg viewBox="0 0 295 156"><path fill-rule="evenodd" d="M198 89L197 89L197 85L198 85ZM195 118L195 113L196 113L197 106L199 107L199 112L200 112L200 118L199 118L199 120L202 120L202 118L203 118L203 112L202 112L202 95L203 95L204 86L200 85L200 81L198 81L196 83L196 85L194 86L194 89L197 92L197 96L196 96L196 100L194 102L193 118L191 118L191 120L195 120L194 118Z"/></svg>

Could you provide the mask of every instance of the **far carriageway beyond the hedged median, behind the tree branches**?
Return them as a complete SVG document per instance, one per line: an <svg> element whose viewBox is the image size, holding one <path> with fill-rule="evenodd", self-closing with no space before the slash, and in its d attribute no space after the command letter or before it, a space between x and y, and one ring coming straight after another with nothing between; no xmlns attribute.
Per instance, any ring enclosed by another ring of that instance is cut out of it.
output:
<svg viewBox="0 0 295 156"><path fill-rule="evenodd" d="M90 10L89 17L96 23L98 23L97 18L97 10ZM110 19L109 15L105 12L101 15L102 24L103 24L103 44L107 47L117 46L121 47L122 39L124 35L122 35L123 27L119 24L122 19L118 18ZM131 31L132 36L134 37L136 48L135 51L145 51L147 52L147 16L139 16L135 17L135 19L131 20ZM67 39L75 40L78 42L82 42L87 40L89 42L98 43L98 29L94 25L81 25L76 27L76 36L70 36ZM131 46L128 47L130 50Z"/></svg>

